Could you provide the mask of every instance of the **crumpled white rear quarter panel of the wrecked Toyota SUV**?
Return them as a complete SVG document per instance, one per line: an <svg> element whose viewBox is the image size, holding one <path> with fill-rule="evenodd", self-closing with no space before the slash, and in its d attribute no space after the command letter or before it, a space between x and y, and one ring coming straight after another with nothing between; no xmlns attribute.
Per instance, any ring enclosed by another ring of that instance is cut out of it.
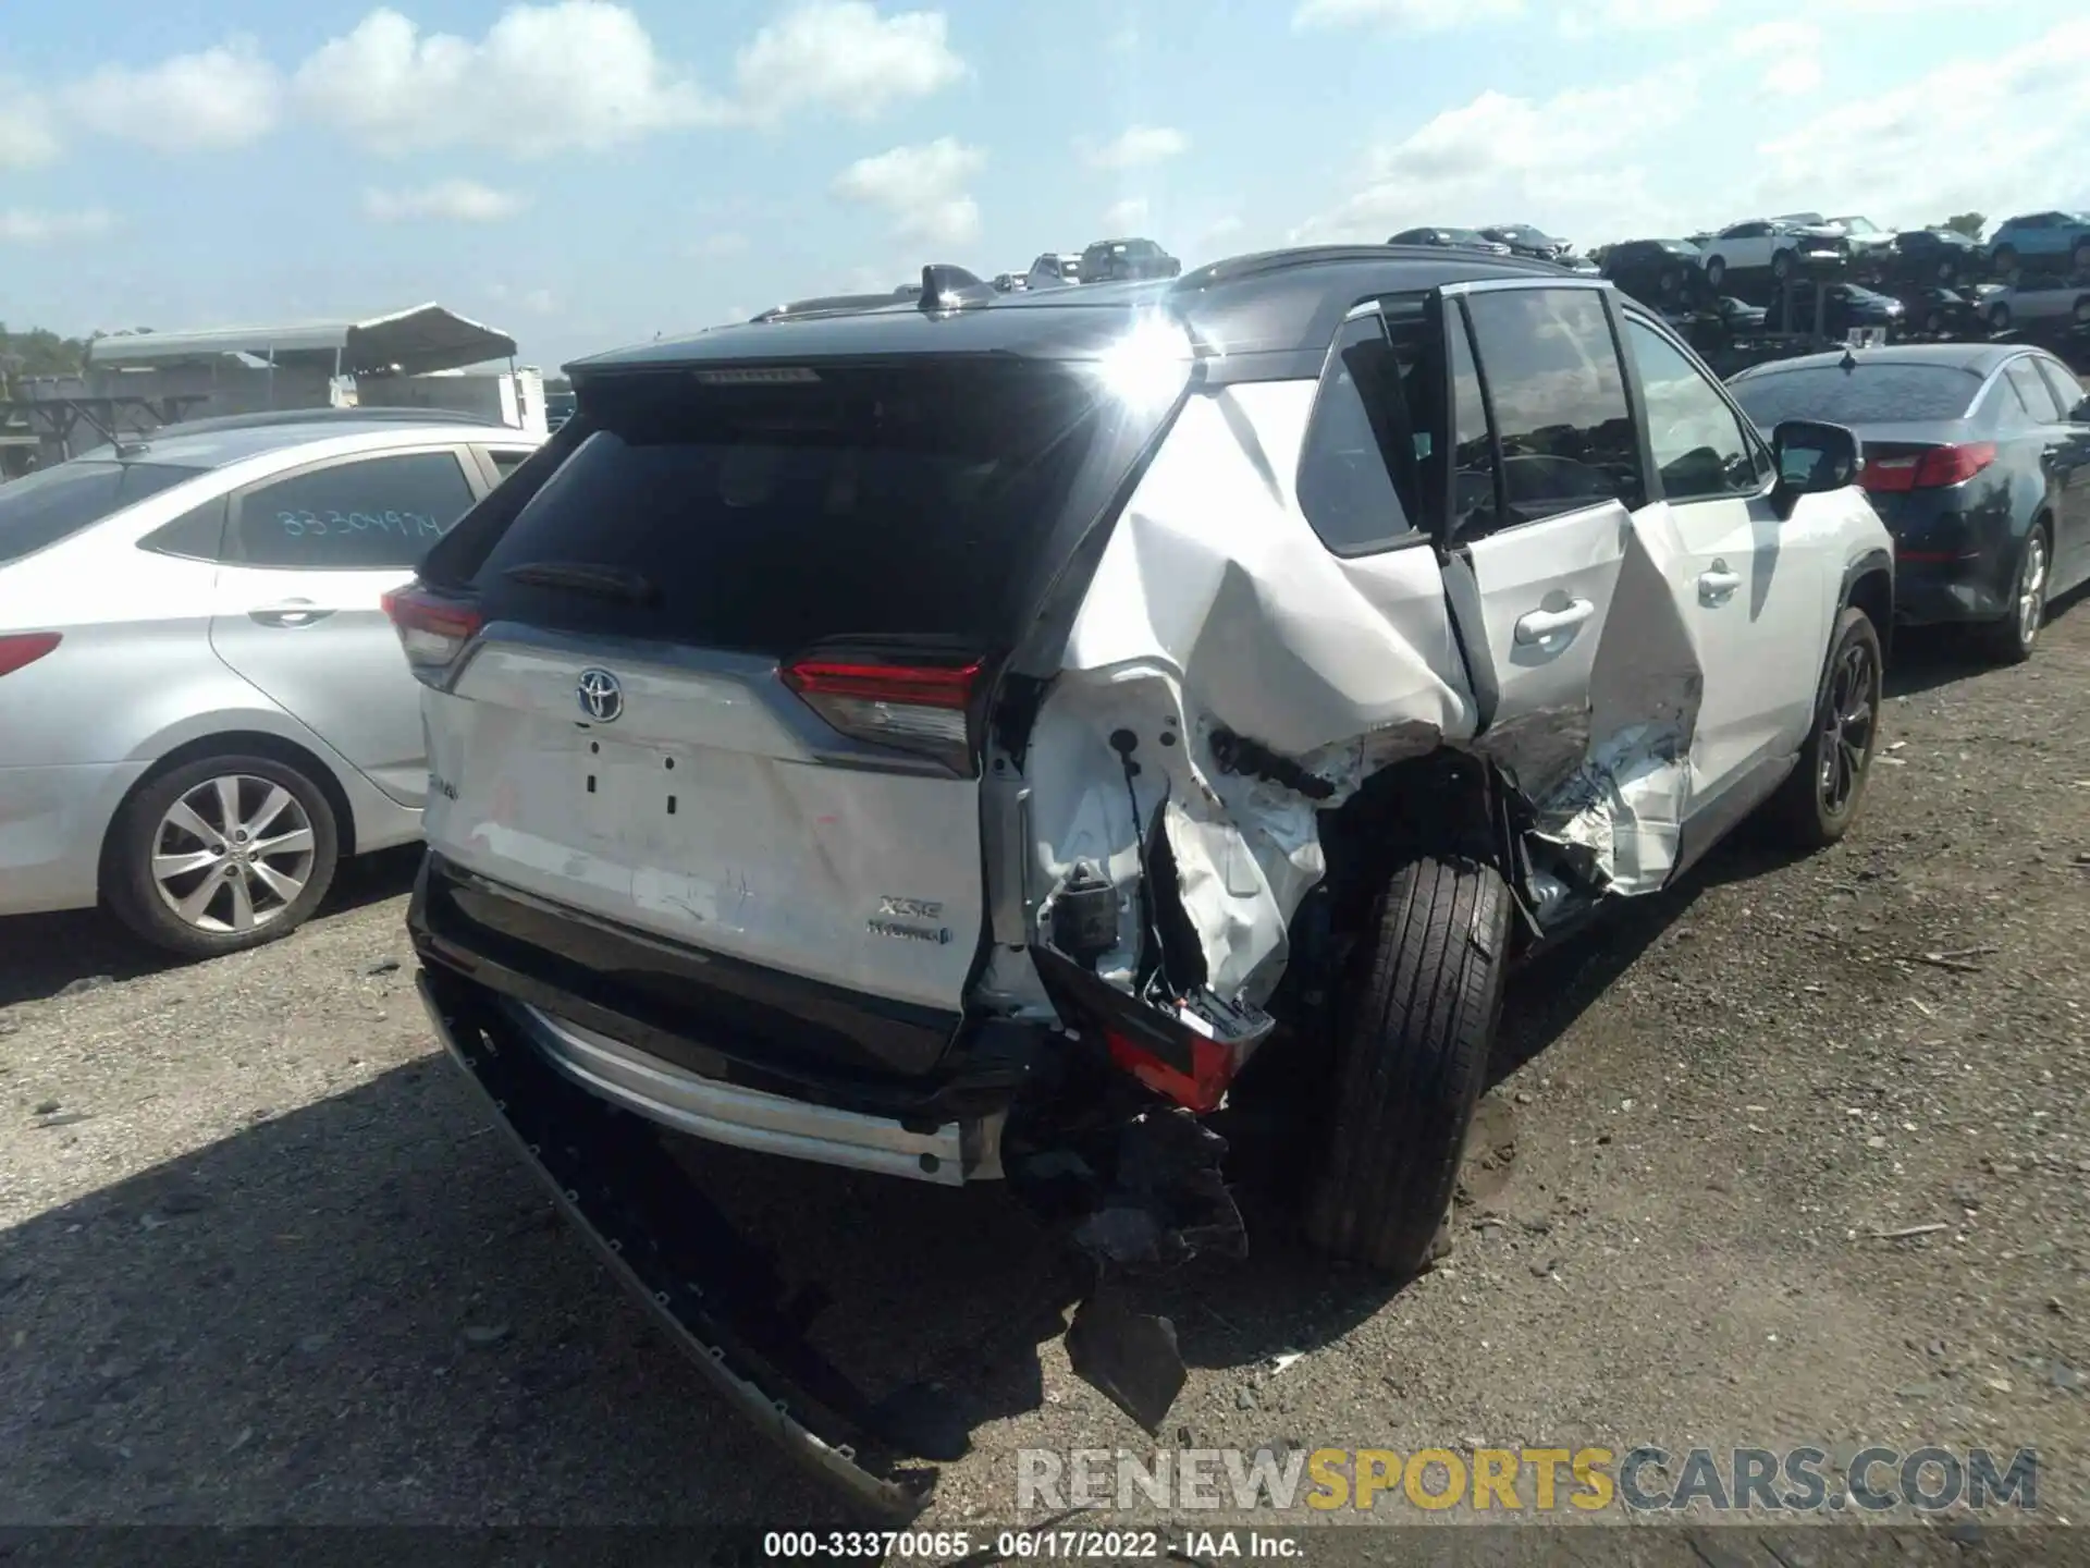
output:
<svg viewBox="0 0 2090 1568"><path fill-rule="evenodd" d="M1139 953L1141 834L1168 838L1210 989L1260 1006L1323 874L1315 811L1390 761L1473 736L1432 550L1344 560L1300 512L1313 399L1313 381L1189 399L1114 525L1032 728L1030 886L1087 861L1120 889L1120 947L1097 964L1120 985ZM1131 780L1118 732L1135 738ZM1229 774L1218 732L1333 790Z"/></svg>

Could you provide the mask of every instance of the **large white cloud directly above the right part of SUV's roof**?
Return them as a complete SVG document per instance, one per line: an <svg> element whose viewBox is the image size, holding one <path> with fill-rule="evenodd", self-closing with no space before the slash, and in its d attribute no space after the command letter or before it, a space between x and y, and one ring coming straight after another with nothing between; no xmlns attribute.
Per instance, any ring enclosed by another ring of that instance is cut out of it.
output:
<svg viewBox="0 0 2090 1568"><path fill-rule="evenodd" d="M1363 186L1306 220L1294 240L1384 240L1415 224L1528 217L1570 238L1670 222L1647 188L1649 159L1693 123L1689 65L1551 98L1482 92L1367 157Z"/></svg>

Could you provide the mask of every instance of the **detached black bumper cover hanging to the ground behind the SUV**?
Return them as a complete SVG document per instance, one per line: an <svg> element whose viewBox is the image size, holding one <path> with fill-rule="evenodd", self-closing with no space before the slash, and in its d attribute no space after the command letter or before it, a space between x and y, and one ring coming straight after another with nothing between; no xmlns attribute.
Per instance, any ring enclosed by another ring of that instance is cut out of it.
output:
<svg viewBox="0 0 2090 1568"><path fill-rule="evenodd" d="M767 1254L604 1100L529 1050L502 1050L489 997L443 972L420 976L445 1050L485 1093L495 1123L550 1187L602 1263L690 1355L698 1371L792 1459L859 1505L913 1516L930 1491L878 1434L878 1409L803 1338Z"/></svg>

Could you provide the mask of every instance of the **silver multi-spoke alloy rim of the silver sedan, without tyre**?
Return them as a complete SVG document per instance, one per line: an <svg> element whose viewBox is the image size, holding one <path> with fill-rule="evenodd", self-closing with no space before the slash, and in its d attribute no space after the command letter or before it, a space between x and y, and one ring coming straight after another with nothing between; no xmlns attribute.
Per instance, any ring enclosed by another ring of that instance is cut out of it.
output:
<svg viewBox="0 0 2090 1568"><path fill-rule="evenodd" d="M211 935L274 924L311 880L311 817L272 778L222 774L186 790L153 834L153 884L173 918Z"/></svg>

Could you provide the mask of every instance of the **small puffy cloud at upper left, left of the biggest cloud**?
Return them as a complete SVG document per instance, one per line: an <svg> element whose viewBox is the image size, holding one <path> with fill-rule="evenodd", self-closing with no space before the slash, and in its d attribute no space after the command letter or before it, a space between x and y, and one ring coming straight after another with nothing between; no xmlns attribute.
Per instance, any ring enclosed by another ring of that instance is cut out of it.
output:
<svg viewBox="0 0 2090 1568"><path fill-rule="evenodd" d="M71 84L65 105L88 130L125 142L242 146L274 130L282 77L251 38L232 38L159 65L104 65Z"/></svg>

